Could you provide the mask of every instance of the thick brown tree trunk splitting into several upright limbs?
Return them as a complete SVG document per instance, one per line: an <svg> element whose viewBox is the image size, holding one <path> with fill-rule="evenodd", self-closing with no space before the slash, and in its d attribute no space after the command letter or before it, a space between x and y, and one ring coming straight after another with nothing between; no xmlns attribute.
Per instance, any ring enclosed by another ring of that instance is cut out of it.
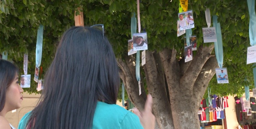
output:
<svg viewBox="0 0 256 129"><path fill-rule="evenodd" d="M177 60L176 50L146 52L143 66L148 93L153 97L153 113L160 129L198 129L197 111L208 83L215 74L216 58L211 55L214 45L199 47L192 61ZM143 110L146 93L139 96L134 56L117 59L120 77L132 103ZM144 78L141 76L141 78ZM169 97L169 99L168 99Z"/></svg>

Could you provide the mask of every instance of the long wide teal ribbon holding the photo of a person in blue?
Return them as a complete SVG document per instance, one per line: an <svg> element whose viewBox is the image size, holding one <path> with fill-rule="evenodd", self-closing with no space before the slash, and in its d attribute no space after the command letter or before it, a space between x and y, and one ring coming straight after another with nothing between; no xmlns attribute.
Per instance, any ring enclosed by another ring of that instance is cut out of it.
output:
<svg viewBox="0 0 256 129"><path fill-rule="evenodd" d="M223 65L223 45L222 45L222 34L221 34L221 24L217 23L218 16L213 15L213 27L215 27L217 42L214 42L215 55L219 65L222 68Z"/></svg>

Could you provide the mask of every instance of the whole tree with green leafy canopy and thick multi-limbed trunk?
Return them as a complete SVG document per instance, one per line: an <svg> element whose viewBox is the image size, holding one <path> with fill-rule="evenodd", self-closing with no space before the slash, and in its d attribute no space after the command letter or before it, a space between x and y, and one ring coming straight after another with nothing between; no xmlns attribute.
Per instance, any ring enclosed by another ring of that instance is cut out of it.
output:
<svg viewBox="0 0 256 129"><path fill-rule="evenodd" d="M140 2L141 28L147 32L146 65L141 67L142 95L139 96L135 76L135 55L127 56L127 40L131 37L130 21L137 12L134 0L2 0L0 1L0 52L8 52L23 74L23 54L29 57L28 73L33 76L37 29L44 25L43 73L51 63L61 34L74 25L75 9L80 7L84 24L104 24L120 67L127 94L140 110L146 91L154 98L153 111L159 128L198 128L197 109L208 87L213 94L227 95L253 87L252 64L246 65L249 14L246 1L194 0L193 10L198 50L193 60L184 62L184 39L177 37L179 1L147 0ZM222 28L224 61L229 84L217 84L213 43L203 43L202 27L206 27L204 11L218 16ZM43 76L43 74L42 74ZM247 78L245 80L244 78ZM24 89L36 92L36 84ZM188 105L188 106L184 106Z"/></svg>

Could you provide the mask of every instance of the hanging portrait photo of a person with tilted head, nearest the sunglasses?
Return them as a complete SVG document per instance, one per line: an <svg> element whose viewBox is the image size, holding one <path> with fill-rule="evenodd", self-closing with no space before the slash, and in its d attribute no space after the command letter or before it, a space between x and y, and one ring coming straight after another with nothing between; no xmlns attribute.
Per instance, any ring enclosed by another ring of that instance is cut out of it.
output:
<svg viewBox="0 0 256 129"><path fill-rule="evenodd" d="M147 33L133 34L133 51L147 50Z"/></svg>

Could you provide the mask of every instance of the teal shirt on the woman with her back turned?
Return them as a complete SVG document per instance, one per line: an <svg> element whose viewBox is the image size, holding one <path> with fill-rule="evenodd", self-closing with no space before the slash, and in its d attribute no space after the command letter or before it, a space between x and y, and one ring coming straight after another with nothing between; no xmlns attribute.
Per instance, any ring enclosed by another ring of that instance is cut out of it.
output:
<svg viewBox="0 0 256 129"><path fill-rule="evenodd" d="M25 126L30 112L25 114L19 122L18 129ZM93 129L143 129L137 115L116 105L98 102L93 118Z"/></svg>

